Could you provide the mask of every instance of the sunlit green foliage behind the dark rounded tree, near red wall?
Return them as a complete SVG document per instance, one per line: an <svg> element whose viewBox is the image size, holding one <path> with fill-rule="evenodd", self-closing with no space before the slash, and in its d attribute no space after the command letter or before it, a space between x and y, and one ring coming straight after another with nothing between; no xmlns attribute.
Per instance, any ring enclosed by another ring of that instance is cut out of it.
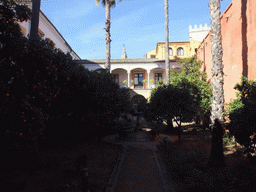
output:
<svg viewBox="0 0 256 192"><path fill-rule="evenodd" d="M200 71L202 63L195 56L180 61L183 64L180 72L171 73L171 84L190 90L198 111L195 118L204 120L210 115L212 86L207 82L207 75Z"/></svg>

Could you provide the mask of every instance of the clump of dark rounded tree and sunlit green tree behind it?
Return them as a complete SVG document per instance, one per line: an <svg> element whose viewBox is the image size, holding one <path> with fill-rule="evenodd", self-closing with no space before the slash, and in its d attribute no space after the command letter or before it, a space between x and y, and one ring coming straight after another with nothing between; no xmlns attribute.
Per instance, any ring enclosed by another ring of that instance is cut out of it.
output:
<svg viewBox="0 0 256 192"><path fill-rule="evenodd" d="M151 91L151 98L145 111L148 120L167 121L168 129L173 128L172 120L180 127L181 122L195 120L203 128L209 126L211 84L205 72L200 71L201 62L195 57L180 61L179 72L171 73L170 85L158 84Z"/></svg>

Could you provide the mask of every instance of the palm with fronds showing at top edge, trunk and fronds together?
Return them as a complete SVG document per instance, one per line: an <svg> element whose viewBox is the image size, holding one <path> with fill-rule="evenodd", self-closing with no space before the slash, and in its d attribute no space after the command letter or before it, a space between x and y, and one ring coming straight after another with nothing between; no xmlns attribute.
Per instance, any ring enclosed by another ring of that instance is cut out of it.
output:
<svg viewBox="0 0 256 192"><path fill-rule="evenodd" d="M120 3L122 0L119 0ZM116 1L115 0L96 0L96 5L98 6L99 3L105 7L106 10L106 64L105 68L108 72L110 72L110 8L115 7Z"/></svg>

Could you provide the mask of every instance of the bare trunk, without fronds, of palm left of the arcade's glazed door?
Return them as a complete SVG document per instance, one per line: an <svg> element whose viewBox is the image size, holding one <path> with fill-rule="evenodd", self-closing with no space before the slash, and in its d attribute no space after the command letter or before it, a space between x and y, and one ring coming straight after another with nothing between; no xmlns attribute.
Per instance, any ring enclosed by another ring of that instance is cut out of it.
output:
<svg viewBox="0 0 256 192"><path fill-rule="evenodd" d="M110 72L110 2L109 0L105 1L105 9L106 9L106 64L105 68L108 72Z"/></svg>

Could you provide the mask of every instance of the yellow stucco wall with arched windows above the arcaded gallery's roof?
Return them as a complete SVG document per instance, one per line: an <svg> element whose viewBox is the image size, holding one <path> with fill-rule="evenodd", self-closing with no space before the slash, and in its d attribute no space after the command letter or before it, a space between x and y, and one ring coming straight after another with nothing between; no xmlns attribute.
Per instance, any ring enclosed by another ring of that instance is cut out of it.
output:
<svg viewBox="0 0 256 192"><path fill-rule="evenodd" d="M195 55L195 51L200 45L199 41L181 41L181 42L169 42L169 49L172 49L173 54L169 55L170 59L184 59L187 57L191 57ZM179 48L183 49L184 55L178 55L177 50ZM156 45L156 49L148 52L147 58L151 58L151 55L156 56L157 59L164 60L165 59L165 43L158 42Z"/></svg>

